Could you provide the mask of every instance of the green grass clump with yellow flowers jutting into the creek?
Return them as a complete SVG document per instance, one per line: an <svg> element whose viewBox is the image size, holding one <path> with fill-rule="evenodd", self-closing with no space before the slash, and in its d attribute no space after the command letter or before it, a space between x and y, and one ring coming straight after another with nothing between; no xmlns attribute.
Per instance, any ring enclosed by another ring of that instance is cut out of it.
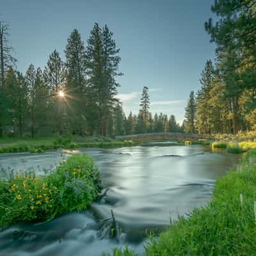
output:
<svg viewBox="0 0 256 256"><path fill-rule="evenodd" d="M46 221L92 204L100 191L97 166L74 155L49 175L35 172L0 180L0 227L17 221Z"/></svg>

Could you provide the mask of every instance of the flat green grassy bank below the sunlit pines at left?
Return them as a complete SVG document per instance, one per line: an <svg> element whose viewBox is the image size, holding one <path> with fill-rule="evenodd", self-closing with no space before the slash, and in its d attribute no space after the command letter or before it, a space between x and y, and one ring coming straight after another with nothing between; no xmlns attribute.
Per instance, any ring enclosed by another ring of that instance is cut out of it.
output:
<svg viewBox="0 0 256 256"><path fill-rule="evenodd" d="M45 150L55 150L57 148L115 148L130 147L137 144L133 141L116 141L110 138L3 138L0 139L0 153L43 153Z"/></svg>

